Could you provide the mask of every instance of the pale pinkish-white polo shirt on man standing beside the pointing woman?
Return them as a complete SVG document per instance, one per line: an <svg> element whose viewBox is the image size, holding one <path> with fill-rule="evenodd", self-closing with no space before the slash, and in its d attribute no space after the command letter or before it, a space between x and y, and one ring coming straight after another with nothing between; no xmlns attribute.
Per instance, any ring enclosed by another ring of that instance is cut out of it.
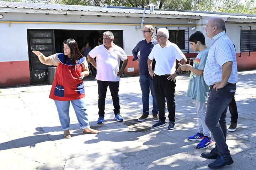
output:
<svg viewBox="0 0 256 170"><path fill-rule="evenodd" d="M114 48L108 51L102 44L92 49L89 55L91 58L96 57L96 80L120 81L120 77L117 76L120 60L124 61L127 59L126 53L121 47L114 44Z"/></svg>

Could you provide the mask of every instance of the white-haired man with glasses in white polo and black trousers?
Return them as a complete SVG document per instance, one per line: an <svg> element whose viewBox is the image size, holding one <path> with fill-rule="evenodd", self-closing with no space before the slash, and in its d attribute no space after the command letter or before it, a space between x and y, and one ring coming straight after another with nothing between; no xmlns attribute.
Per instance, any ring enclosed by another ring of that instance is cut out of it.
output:
<svg viewBox="0 0 256 170"><path fill-rule="evenodd" d="M175 127L175 77L179 74L181 68L176 70L176 59L181 64L187 62L185 55L169 39L169 31L166 28L159 28L155 36L158 44L155 45L148 57L149 74L153 78L153 87L158 104L159 121L153 128L165 126L165 98L170 120L168 129ZM152 70L151 63L155 59L155 70Z"/></svg>

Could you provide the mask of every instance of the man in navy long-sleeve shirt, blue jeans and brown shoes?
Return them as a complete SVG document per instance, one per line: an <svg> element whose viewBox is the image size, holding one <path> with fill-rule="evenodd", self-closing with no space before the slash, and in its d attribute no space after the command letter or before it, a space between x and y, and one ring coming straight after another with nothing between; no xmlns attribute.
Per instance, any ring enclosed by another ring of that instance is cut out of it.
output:
<svg viewBox="0 0 256 170"><path fill-rule="evenodd" d="M155 92L153 90L153 80L148 71L148 56L153 49L154 45L158 44L158 42L153 39L154 27L151 25L144 26L143 37L145 40L139 41L138 44L134 47L133 53L133 61L137 61L139 63L139 71L140 71L140 88L142 90L142 105L143 105L143 114L138 119L138 121L144 121L149 118L149 91L151 91L151 95L153 97L153 121L159 121L158 119L158 107L155 98ZM138 52L140 51L140 57L138 57ZM153 62L152 68L154 68L155 62Z"/></svg>

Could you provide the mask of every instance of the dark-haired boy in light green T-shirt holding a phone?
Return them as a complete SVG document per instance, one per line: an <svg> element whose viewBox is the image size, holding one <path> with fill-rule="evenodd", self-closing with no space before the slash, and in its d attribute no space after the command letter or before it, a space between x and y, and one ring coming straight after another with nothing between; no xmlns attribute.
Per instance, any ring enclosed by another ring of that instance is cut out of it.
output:
<svg viewBox="0 0 256 170"><path fill-rule="evenodd" d="M191 49L193 49L193 51L199 51L199 53L195 58L192 67L190 64L183 64L180 66L182 71L191 71L190 81L188 83L187 97L194 100L198 116L198 132L193 136L189 136L188 140L201 141L197 145L197 148L205 149L213 145L210 130L204 123L209 86L203 79L203 70L209 49L207 49L204 35L200 31L192 34L189 38L189 41Z"/></svg>

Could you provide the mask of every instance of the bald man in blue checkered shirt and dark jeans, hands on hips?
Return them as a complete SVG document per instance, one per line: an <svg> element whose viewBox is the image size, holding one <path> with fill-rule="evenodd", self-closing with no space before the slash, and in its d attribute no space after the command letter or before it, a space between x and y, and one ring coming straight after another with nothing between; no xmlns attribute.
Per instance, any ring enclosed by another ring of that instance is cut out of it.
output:
<svg viewBox="0 0 256 170"><path fill-rule="evenodd" d="M238 72L233 42L225 33L222 18L210 18L206 25L206 35L212 39L206 65L204 81L210 86L207 100L205 123L215 140L215 148L202 153L204 158L216 159L209 168L222 168L234 163L226 144L226 111L236 91Z"/></svg>

